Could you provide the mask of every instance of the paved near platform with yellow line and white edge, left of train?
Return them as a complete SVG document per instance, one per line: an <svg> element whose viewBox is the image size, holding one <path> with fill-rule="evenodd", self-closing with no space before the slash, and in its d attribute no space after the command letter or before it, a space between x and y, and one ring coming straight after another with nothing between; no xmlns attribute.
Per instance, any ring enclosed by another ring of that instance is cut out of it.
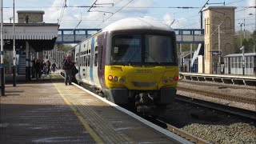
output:
<svg viewBox="0 0 256 144"><path fill-rule="evenodd" d="M0 143L190 143L95 95L57 73L7 84Z"/></svg>

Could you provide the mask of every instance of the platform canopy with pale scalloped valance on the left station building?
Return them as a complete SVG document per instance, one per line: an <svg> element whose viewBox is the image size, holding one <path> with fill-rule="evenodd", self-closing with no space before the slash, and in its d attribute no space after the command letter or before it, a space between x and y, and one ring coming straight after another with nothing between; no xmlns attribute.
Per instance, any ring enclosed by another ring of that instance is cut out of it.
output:
<svg viewBox="0 0 256 144"><path fill-rule="evenodd" d="M14 25L15 48L25 49L29 42L36 52L53 50L58 37L57 23L16 23ZM2 27L4 50L13 49L13 24L4 23Z"/></svg>

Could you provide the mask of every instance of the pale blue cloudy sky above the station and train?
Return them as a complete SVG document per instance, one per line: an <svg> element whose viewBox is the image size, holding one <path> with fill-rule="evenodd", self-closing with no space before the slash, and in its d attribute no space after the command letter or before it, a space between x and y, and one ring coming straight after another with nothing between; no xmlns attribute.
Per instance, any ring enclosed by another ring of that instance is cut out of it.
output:
<svg viewBox="0 0 256 144"><path fill-rule="evenodd" d="M199 29L198 13L207 0L2 0L3 21L10 23L15 10L44 10L44 22L59 23L61 29L102 29L129 17L149 17L174 29ZM256 0L209 0L207 6L236 6L235 30L256 28ZM64 8L64 6L66 6ZM190 7L184 9L181 7ZM204 18L203 18L204 19Z"/></svg>

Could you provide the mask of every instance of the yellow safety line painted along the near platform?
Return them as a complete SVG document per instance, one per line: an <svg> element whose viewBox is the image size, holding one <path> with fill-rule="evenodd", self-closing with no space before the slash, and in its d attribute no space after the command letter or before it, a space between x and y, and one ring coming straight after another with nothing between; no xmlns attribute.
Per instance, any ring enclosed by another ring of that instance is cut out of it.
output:
<svg viewBox="0 0 256 144"><path fill-rule="evenodd" d="M56 87L56 89L58 90L57 86L54 83L54 86ZM94 141L97 143L103 143L102 139L99 138L99 136L94 133L94 130L92 130L90 128L90 126L88 125L88 123L86 122L86 120L84 118L82 118L82 115L78 112L78 110L76 108L74 108L74 106L72 106L72 104L63 96L62 91L58 90L58 93L61 95L61 97L63 98L63 100L66 102L67 105L70 106L71 110L74 111L74 114L78 117L78 119L80 120L80 122L82 122L83 127L86 129L86 131L90 134L90 136L92 138L94 138Z"/></svg>

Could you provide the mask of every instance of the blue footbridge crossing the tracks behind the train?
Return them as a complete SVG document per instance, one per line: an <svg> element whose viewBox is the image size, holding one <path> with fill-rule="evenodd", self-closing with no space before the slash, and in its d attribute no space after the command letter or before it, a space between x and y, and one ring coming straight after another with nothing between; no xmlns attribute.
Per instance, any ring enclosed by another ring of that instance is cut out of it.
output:
<svg viewBox="0 0 256 144"><path fill-rule="evenodd" d="M56 44L78 43L101 29L59 29ZM178 43L204 43L203 29L174 29Z"/></svg>

